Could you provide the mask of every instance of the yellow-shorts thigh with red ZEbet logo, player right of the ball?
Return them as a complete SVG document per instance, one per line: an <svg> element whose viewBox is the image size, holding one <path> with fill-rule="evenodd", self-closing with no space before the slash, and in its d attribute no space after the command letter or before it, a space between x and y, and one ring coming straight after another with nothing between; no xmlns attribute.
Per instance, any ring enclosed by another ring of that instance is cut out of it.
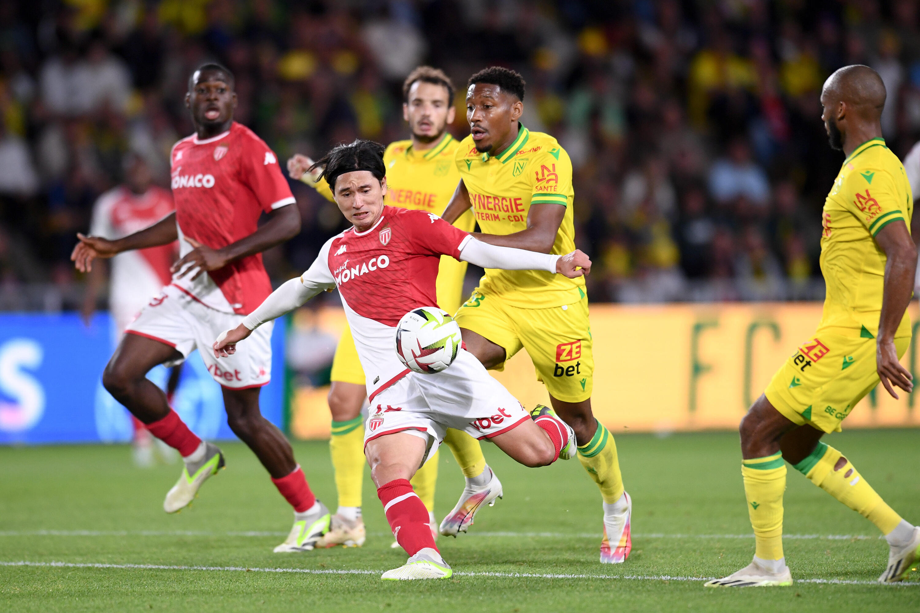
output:
<svg viewBox="0 0 920 613"><path fill-rule="evenodd" d="M594 358L588 300L552 309L515 309L521 342L534 361L538 380L563 403L591 398Z"/></svg>

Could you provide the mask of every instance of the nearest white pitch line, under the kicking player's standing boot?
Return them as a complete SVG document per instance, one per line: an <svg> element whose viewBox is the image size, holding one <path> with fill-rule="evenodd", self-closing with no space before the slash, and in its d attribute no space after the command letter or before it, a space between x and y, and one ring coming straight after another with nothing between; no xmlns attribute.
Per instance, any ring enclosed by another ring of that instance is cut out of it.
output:
<svg viewBox="0 0 920 613"><path fill-rule="evenodd" d="M313 568L247 568L246 566L187 566L170 564L109 564L101 562L17 562L0 561L0 566L37 566L51 568L102 568L102 569L129 569L153 571L211 571L211 572L247 572L247 573L301 573L301 574L377 574L382 571L369 569L313 569ZM455 576L463 577L496 577L501 579L605 579L625 581L709 581L715 577L686 577L669 574L581 574L581 573L496 573L480 572L466 573L455 572ZM801 584L826 584L826 585L879 585L915 587L920 582L902 582L900 584L880 584L877 581L856 581L846 579L797 579Z"/></svg>

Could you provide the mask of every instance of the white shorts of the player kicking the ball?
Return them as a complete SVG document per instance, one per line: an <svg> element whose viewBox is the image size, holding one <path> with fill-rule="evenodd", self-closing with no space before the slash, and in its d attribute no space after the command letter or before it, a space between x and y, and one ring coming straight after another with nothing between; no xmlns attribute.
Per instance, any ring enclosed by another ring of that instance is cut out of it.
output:
<svg viewBox="0 0 920 613"><path fill-rule="evenodd" d="M454 363L434 374L410 372L374 396L364 425L364 445L405 432L425 439L431 458L451 427L483 439L520 426L530 414L511 392L460 349Z"/></svg>

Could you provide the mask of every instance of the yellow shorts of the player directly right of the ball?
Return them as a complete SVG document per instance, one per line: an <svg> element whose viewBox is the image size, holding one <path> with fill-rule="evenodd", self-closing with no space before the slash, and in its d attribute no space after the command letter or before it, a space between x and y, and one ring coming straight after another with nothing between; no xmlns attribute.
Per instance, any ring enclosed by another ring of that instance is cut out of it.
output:
<svg viewBox="0 0 920 613"><path fill-rule="evenodd" d="M553 398L565 403L591 398L594 358L587 298L549 309L522 309L477 288L454 319L461 328L504 347L505 359L526 349L536 379Z"/></svg>

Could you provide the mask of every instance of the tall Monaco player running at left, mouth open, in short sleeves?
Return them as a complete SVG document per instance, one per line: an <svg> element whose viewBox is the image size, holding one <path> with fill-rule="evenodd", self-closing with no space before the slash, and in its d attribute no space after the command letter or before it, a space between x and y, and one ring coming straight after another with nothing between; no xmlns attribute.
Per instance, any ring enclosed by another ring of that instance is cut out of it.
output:
<svg viewBox="0 0 920 613"><path fill-rule="evenodd" d="M310 491L291 445L259 413L259 390L271 374L271 326L259 328L246 347L220 364L210 350L214 337L239 324L271 293L261 252L298 233L300 214L289 206L293 195L275 154L233 120L230 71L201 66L189 80L186 106L195 134L177 142L170 154L176 212L117 241L79 234L72 255L76 267L88 271L96 257L179 242L182 257L171 268L172 283L128 326L103 384L155 437L182 454L185 467L163 504L167 513L176 513L224 467L224 454L195 436L145 376L201 347L201 358L223 388L227 423L293 506L293 528L275 551L311 550L328 529L328 510ZM268 220L259 225L262 213Z"/></svg>

